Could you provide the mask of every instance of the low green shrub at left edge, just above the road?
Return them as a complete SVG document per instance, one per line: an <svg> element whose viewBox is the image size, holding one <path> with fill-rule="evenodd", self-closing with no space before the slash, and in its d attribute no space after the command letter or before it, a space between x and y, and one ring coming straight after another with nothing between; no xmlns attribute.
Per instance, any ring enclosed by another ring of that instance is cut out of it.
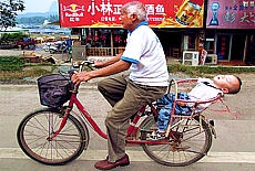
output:
<svg viewBox="0 0 255 171"><path fill-rule="evenodd" d="M19 56L0 57L0 71L22 71L24 62Z"/></svg>

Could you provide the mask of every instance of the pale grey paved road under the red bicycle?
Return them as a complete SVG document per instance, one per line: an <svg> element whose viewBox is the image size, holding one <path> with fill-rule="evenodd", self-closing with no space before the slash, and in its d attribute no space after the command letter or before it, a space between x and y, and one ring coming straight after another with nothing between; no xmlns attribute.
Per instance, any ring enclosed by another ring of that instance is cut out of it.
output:
<svg viewBox="0 0 255 171"><path fill-rule="evenodd" d="M217 139L213 140L212 149L207 157L201 161L184 168L169 168L155 163L145 156L140 147L128 147L128 153L132 163L130 167L114 170L140 171L140 170L247 170L255 168L255 75L242 74L244 86L242 92L235 96L226 96L225 103L232 110L239 111L238 119L231 114L206 113L208 118L215 119ZM92 84L93 85L93 84ZM104 130L103 120L110 106L99 94L94 86L82 86L79 98L99 126ZM93 164L106 156L106 141L96 136L92 130L88 151L75 161L62 167L49 167L28 159L21 152L16 139L16 130L20 120L30 111L42 106L35 85L0 85L0 170L94 170ZM222 108L217 104L215 108Z"/></svg>

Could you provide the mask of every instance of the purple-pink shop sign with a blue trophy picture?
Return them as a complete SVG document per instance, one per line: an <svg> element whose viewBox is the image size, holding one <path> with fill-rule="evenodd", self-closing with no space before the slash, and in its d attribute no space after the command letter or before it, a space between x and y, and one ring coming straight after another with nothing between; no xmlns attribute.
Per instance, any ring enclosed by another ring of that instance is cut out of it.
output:
<svg viewBox="0 0 255 171"><path fill-rule="evenodd" d="M254 1L208 0L206 28L252 29L255 28Z"/></svg>

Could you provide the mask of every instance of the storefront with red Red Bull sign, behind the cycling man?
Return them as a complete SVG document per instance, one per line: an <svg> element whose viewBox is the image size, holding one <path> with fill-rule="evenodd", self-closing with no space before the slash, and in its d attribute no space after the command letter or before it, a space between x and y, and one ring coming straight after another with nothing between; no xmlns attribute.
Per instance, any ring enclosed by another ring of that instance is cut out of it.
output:
<svg viewBox="0 0 255 171"><path fill-rule="evenodd" d="M130 0L59 0L61 28L72 28L74 45L85 45L89 56L123 52L126 30L119 21ZM140 0L147 10L166 56L182 57L183 51L201 51L204 36L204 0Z"/></svg>

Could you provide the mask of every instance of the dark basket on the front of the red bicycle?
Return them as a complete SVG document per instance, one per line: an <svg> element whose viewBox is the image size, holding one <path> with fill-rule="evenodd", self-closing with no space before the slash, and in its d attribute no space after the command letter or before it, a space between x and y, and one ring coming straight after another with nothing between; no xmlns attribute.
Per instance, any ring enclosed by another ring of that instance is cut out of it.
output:
<svg viewBox="0 0 255 171"><path fill-rule="evenodd" d="M68 75L51 74L38 78L38 88L41 105L57 108L67 103L72 89L71 78Z"/></svg>

